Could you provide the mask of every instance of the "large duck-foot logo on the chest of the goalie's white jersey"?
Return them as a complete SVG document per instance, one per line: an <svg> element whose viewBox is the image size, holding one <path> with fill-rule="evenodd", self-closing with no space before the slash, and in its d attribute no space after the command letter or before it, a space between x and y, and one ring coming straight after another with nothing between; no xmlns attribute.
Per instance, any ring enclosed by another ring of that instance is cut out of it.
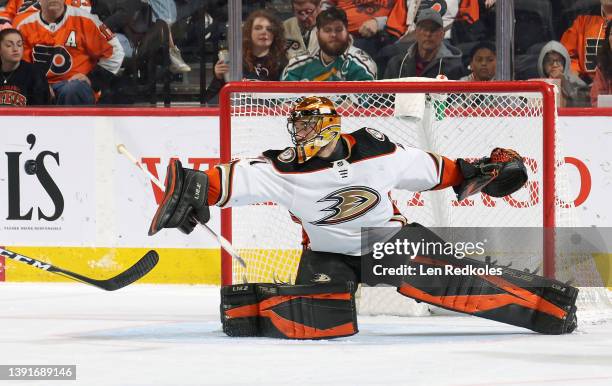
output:
<svg viewBox="0 0 612 386"><path fill-rule="evenodd" d="M323 209L331 212L312 225L335 225L363 216L380 202L380 194L365 186L349 186L328 194L317 202L331 201L333 205Z"/></svg>

